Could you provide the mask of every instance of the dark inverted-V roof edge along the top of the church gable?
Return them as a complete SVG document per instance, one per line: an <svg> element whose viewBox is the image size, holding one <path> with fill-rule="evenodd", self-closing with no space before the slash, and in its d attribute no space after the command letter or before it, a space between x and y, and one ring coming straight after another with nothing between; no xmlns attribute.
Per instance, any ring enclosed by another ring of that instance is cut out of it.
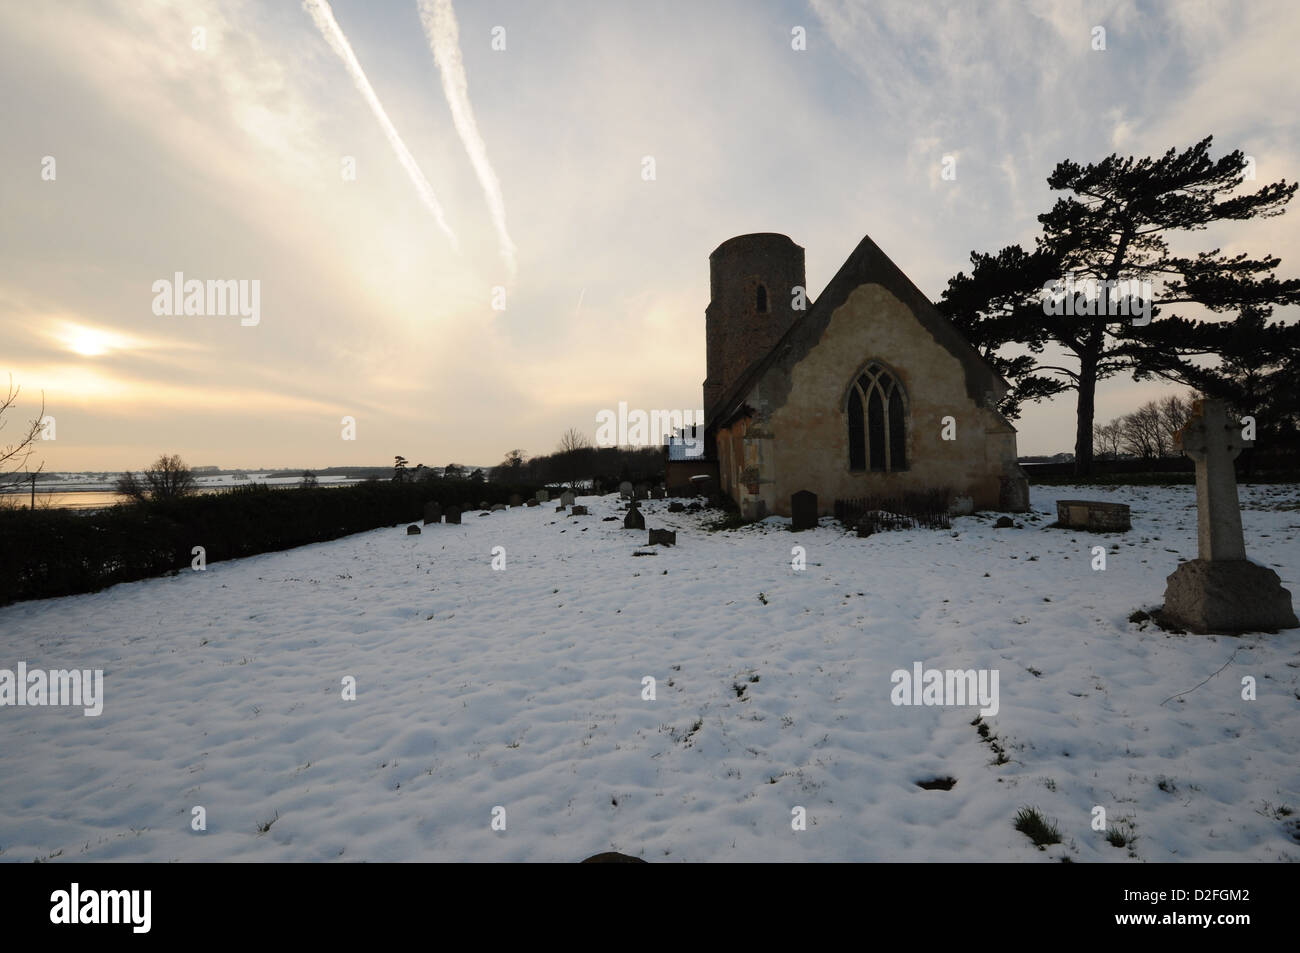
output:
<svg viewBox="0 0 1300 953"><path fill-rule="evenodd" d="M719 246L719 250L722 247ZM748 412L745 398L759 378L774 367L780 367L785 372L784 378L789 386L789 371L820 341L836 308L862 285L883 285L911 309L931 337L961 361L966 393L976 404L987 404L987 394L992 394L996 399L1010 389L1002 376L980 356L952 321L931 304L920 289L913 285L902 269L880 250L880 246L872 242L870 235L863 235L816 302L794 320L771 351L750 364L714 407L707 410L707 432L712 434L718 426L727 425L742 412Z"/></svg>

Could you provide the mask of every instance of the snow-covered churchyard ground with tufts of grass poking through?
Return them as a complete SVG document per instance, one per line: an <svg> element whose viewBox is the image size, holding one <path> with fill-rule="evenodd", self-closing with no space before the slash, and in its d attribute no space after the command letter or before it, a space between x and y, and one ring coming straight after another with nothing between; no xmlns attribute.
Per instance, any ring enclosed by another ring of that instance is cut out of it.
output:
<svg viewBox="0 0 1300 953"><path fill-rule="evenodd" d="M1023 528L867 540L651 501L664 549L593 497L0 608L0 668L103 668L105 696L0 707L0 861L1300 859L1300 631L1128 621L1196 555L1190 486L1032 498ZM1134 529L1046 528L1065 498ZM1300 605L1300 488L1242 498ZM975 709L890 702L914 662L998 672L1006 763ZM1026 805L1061 844L1014 829Z"/></svg>

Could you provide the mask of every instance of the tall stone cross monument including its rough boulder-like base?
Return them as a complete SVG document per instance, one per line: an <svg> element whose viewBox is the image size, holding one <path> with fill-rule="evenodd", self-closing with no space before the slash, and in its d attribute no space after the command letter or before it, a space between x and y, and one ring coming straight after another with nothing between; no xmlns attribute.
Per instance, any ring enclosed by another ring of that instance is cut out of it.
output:
<svg viewBox="0 0 1300 953"><path fill-rule="evenodd" d="M1300 625L1278 573L1245 558L1232 460L1252 442L1222 400L1196 400L1178 442L1196 463L1197 558L1166 579L1164 619L1201 633Z"/></svg>

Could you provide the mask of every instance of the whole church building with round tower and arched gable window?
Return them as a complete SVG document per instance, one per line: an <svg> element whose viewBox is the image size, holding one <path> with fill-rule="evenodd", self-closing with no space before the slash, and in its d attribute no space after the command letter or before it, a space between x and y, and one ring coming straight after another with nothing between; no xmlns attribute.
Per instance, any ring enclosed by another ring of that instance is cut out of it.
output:
<svg viewBox="0 0 1300 953"><path fill-rule="evenodd" d="M1028 508L1006 381L875 242L816 302L785 235L738 235L708 263L703 447L744 516L789 516L800 491L819 515L935 490L958 512Z"/></svg>

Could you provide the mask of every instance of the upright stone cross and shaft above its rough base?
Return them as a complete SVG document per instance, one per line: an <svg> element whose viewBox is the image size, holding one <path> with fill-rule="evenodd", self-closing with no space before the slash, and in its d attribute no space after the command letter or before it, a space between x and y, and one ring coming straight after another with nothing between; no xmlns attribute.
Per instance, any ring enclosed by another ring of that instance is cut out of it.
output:
<svg viewBox="0 0 1300 953"><path fill-rule="evenodd" d="M1245 559L1242 507L1232 460L1252 441L1227 416L1222 400L1197 400L1176 441L1196 462L1196 530L1201 559Z"/></svg>

